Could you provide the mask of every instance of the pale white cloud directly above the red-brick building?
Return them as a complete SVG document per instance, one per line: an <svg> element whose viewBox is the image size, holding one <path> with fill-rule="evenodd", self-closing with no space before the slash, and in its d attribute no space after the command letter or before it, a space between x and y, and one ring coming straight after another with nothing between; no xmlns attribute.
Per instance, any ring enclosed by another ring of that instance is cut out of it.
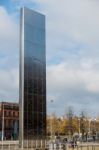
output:
<svg viewBox="0 0 99 150"><path fill-rule="evenodd" d="M18 101L18 69L0 70L0 101Z"/></svg>

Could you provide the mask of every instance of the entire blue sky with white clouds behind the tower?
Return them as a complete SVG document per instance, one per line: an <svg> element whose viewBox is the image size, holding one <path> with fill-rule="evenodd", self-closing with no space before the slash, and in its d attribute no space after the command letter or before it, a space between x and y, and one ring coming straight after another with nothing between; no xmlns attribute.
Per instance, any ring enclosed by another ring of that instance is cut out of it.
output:
<svg viewBox="0 0 99 150"><path fill-rule="evenodd" d="M99 116L98 0L0 0L0 101L19 100L23 6L46 15L48 112L63 115L72 106Z"/></svg>

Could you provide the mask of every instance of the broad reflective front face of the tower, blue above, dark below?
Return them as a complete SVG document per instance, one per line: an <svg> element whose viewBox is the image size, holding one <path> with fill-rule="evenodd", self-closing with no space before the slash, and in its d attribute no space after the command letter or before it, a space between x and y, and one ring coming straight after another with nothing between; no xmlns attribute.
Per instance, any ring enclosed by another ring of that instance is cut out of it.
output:
<svg viewBox="0 0 99 150"><path fill-rule="evenodd" d="M30 17L28 15L30 15ZM42 27L42 17L40 21L35 18L34 15L33 17L37 22L32 22L32 14L28 12L28 15L24 18L25 139L33 138L34 135L41 136L46 133L45 30L44 27ZM31 18L31 20L29 20L29 18ZM38 25L39 21L41 25Z"/></svg>

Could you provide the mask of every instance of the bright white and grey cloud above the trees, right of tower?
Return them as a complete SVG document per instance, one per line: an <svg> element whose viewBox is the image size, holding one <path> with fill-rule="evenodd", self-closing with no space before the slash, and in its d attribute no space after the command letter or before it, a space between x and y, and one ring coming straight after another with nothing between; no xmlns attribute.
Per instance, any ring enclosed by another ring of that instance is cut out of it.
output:
<svg viewBox="0 0 99 150"><path fill-rule="evenodd" d="M47 87L48 100L55 98L54 108L50 109L55 109L58 114L64 113L67 106L73 106L75 112L86 109L91 115L99 114L99 70L95 70L90 62L84 65L81 62L79 67L65 62L49 66Z"/></svg>

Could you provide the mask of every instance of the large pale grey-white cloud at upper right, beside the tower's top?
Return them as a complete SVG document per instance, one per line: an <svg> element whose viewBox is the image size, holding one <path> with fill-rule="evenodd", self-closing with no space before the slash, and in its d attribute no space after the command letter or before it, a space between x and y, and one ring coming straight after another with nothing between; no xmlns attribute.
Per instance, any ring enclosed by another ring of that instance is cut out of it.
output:
<svg viewBox="0 0 99 150"><path fill-rule="evenodd" d="M91 56L94 53L99 55L98 1L38 0L38 3L42 7L41 12L46 14L47 50L50 55L53 55L52 51L62 51L63 47L75 48L78 45L84 46L84 55L89 52Z"/></svg>

